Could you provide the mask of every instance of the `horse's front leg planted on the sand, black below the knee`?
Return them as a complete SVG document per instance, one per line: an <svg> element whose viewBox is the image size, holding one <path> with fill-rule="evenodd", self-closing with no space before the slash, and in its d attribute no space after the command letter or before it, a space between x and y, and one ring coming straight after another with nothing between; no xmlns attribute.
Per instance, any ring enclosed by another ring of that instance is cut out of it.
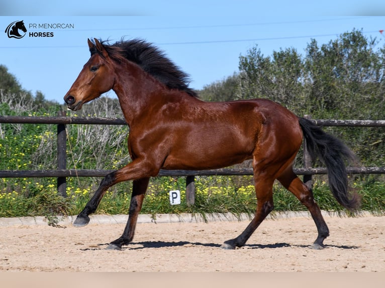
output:
<svg viewBox="0 0 385 288"><path fill-rule="evenodd" d="M143 199L149 180L150 178L142 178L133 182L130 212L126 228L124 229L123 235L111 242L107 249L120 250L122 249L122 245L127 245L134 238L136 221L138 219L139 212L142 209Z"/></svg>

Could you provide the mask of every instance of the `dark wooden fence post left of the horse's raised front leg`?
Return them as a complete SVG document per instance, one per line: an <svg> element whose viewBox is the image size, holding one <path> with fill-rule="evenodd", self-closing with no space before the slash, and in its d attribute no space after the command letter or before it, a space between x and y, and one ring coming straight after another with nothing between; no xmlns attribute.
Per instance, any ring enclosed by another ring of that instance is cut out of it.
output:
<svg viewBox="0 0 385 288"><path fill-rule="evenodd" d="M65 111L59 111L58 116L65 116ZM67 133L65 131L65 124L57 124L57 169L66 169L67 168L67 155L66 155L66 145ZM67 197L67 179L65 177L57 178L57 192L63 196Z"/></svg>

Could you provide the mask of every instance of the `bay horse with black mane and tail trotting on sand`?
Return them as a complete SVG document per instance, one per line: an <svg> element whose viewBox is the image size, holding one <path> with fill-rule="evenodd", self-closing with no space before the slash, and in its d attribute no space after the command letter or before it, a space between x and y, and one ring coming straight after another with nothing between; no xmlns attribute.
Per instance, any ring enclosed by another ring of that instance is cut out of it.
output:
<svg viewBox="0 0 385 288"><path fill-rule="evenodd" d="M64 96L69 109L113 89L130 127L127 166L108 174L73 222L87 225L112 185L133 180L129 218L123 235L107 249L120 250L134 237L150 177L160 169L217 169L252 159L257 198L256 212L246 229L222 248L243 246L273 210L272 186L277 179L310 211L318 237L312 247L322 249L329 229L312 190L293 172L293 162L303 138L313 156L328 169L329 186L337 201L348 209L359 205L348 192L345 160L353 153L336 137L313 122L266 99L205 102L188 87L188 75L157 47L140 39L108 44L88 39L91 57Z"/></svg>

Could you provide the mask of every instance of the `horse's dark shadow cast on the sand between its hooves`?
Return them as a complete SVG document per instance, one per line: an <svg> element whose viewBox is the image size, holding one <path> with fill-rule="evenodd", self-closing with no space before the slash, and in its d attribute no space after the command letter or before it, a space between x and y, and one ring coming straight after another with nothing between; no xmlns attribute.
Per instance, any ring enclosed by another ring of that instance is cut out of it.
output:
<svg viewBox="0 0 385 288"><path fill-rule="evenodd" d="M99 247L84 248L86 250L102 250L108 246L109 243L98 244ZM204 247L221 247L221 244L217 243L201 243L201 242L165 242L165 241L143 241L143 242L131 242L128 246L122 247L122 250L140 250L145 248L165 248L165 247L193 247L193 246L204 246ZM295 245L288 243L274 243L274 244L246 244L242 248L246 249L275 249L284 247L298 247L298 248L310 248L311 245ZM325 248L339 248L339 249L357 249L358 246L346 246L346 245L325 245Z"/></svg>

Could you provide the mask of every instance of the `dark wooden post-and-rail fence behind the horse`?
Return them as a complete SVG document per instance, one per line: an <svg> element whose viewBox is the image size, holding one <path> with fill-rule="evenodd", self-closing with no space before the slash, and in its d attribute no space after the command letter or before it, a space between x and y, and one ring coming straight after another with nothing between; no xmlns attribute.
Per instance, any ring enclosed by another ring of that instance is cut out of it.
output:
<svg viewBox="0 0 385 288"><path fill-rule="evenodd" d="M60 112L59 112L60 113ZM310 119L308 115L306 118ZM365 126L385 127L385 120L314 120L321 126ZM34 123L57 124L57 169L56 170L0 170L0 178L29 178L29 177L54 177L57 178L57 190L66 196L67 177L104 177L114 170L68 170L66 169L66 129L68 124L102 124L102 125L127 125L124 119L95 118L95 117L36 117L36 116L0 116L0 123ZM304 175L304 182L311 185L311 177L316 174L327 174L326 168L312 168L311 159L304 146L304 168L296 168L295 173ZM351 174L385 174L385 167L356 167L347 169ZM253 175L252 169L216 169L203 171L189 170L160 170L158 176L186 176L186 201L195 202L195 176L243 176Z"/></svg>

